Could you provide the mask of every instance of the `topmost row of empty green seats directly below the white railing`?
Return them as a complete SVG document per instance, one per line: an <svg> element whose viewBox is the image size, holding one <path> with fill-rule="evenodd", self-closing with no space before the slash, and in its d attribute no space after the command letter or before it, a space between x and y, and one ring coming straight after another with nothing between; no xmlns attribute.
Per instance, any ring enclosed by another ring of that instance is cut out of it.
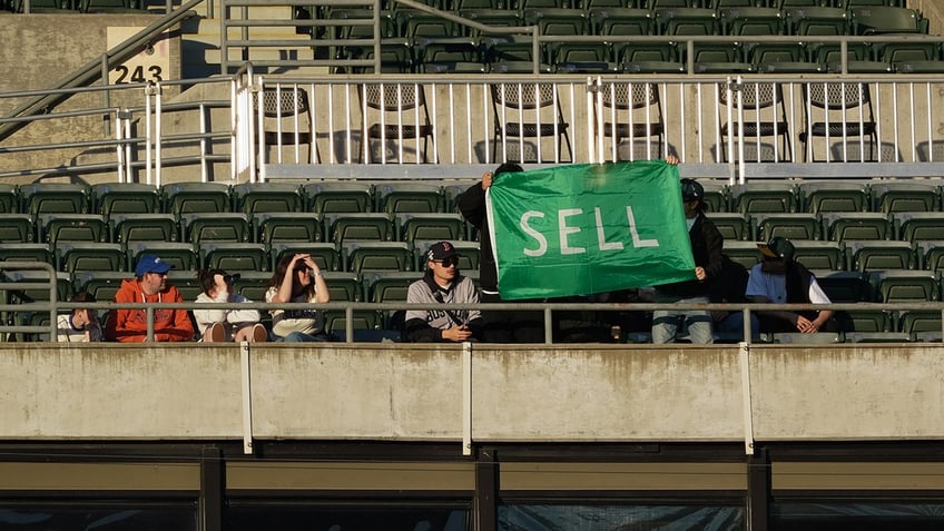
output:
<svg viewBox="0 0 944 531"><path fill-rule="evenodd" d="M640 87L646 88L646 85ZM98 214L106 219L125 214L242 213L448 213L475 179L448 181L346 181L304 184L225 183L0 185L0 214ZM944 180L755 180L728 185L702 180L710 212L754 213L915 213L940 212Z"/></svg>

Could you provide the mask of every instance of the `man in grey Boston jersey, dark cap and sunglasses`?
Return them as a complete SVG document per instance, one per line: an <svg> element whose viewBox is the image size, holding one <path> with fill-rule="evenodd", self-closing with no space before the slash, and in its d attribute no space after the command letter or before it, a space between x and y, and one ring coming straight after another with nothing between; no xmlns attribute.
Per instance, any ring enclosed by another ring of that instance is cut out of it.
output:
<svg viewBox="0 0 944 531"><path fill-rule="evenodd" d="M407 303L460 304L479 302L472 279L459 273L459 255L449 242L426 252L426 273L410 285ZM482 316L478 309L409 309L406 338L412 342L478 341Z"/></svg>

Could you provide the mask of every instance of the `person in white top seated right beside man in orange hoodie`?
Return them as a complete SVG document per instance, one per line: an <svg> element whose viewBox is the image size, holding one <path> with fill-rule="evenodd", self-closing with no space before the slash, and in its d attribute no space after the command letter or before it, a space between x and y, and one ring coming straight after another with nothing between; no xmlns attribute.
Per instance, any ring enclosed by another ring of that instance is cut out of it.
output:
<svg viewBox="0 0 944 531"><path fill-rule="evenodd" d="M250 303L248 298L233 292L233 283L239 275L228 275L223 269L200 271L200 286L204 291L197 295L198 303ZM257 309L223 308L194 309L200 341L219 343L226 341L263 343L268 332L259 323Z"/></svg>

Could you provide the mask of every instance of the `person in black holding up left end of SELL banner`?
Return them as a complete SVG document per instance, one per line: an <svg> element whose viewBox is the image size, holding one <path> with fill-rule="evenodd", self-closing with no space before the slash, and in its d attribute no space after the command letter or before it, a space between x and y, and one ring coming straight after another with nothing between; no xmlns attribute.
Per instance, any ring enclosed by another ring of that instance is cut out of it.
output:
<svg viewBox="0 0 944 531"><path fill-rule="evenodd" d="M480 183L472 185L456 198L462 216L479 232L479 283L483 303L502 302L499 295L498 268L485 208L485 190L492 186L494 177L520 171L524 170L514 163L502 164L494 173L485 171ZM544 341L544 317L541 312L485 312L482 321L482 340L490 343L543 343Z"/></svg>

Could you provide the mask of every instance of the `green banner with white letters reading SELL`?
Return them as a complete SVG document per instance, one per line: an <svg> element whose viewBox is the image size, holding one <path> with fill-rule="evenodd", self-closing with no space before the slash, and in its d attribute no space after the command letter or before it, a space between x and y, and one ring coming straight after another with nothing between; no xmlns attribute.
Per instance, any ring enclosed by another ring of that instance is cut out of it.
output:
<svg viewBox="0 0 944 531"><path fill-rule="evenodd" d="M504 299L695 278L678 168L663 160L502 174L486 201Z"/></svg>

